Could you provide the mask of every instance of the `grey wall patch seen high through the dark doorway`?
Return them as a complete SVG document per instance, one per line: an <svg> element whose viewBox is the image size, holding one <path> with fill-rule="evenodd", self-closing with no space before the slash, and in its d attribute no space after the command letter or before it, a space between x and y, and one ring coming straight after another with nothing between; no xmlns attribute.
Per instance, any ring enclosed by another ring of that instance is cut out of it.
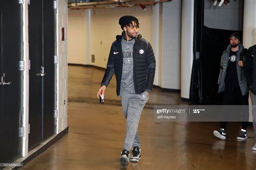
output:
<svg viewBox="0 0 256 170"><path fill-rule="evenodd" d="M204 25L208 28L223 30L242 30L243 1L230 1L226 5L213 5L212 0L205 1ZM252 0L253 1L253 0Z"/></svg>

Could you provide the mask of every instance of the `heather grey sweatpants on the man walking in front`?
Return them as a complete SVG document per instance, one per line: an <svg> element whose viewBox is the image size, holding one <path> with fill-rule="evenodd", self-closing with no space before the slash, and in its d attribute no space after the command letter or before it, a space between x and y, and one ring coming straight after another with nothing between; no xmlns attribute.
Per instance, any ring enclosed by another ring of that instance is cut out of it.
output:
<svg viewBox="0 0 256 170"><path fill-rule="evenodd" d="M140 147L138 137L138 125L143 107L147 103L149 96L146 92L140 94L129 94L120 92L124 117L126 119L126 135L124 149L130 151L132 147Z"/></svg>

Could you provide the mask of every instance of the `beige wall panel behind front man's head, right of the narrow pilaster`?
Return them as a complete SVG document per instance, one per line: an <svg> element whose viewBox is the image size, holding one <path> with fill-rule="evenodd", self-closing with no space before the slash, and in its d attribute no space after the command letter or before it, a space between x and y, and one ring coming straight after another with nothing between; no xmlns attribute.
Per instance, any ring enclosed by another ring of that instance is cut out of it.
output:
<svg viewBox="0 0 256 170"><path fill-rule="evenodd" d="M118 21L124 15L136 16L140 24L139 32L142 33L143 38L151 42L151 6L146 6L146 10L139 6L132 8L92 9L91 54L95 55L95 63L92 63L92 65L106 67L110 46L116 40L116 35L120 35L123 31Z"/></svg>

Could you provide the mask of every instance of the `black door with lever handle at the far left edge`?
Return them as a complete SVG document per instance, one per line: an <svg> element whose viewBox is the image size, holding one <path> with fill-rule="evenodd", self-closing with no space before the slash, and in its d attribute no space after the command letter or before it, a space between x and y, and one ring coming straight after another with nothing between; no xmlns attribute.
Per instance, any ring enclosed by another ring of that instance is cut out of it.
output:
<svg viewBox="0 0 256 170"><path fill-rule="evenodd" d="M0 162L12 162L21 156L22 16L18 0L0 2Z"/></svg>

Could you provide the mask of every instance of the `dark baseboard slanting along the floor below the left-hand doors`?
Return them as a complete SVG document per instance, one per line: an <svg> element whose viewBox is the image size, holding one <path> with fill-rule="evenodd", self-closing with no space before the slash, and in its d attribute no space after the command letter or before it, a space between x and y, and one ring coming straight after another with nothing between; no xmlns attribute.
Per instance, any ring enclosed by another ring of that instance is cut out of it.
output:
<svg viewBox="0 0 256 170"><path fill-rule="evenodd" d="M38 157L40 154L42 154L46 149L51 147L53 144L55 144L57 141L59 141L61 138L63 138L67 133L69 132L69 127L66 127L62 132L59 134L55 134L52 137L50 137L48 140L44 141L39 146L31 149L29 151L28 155L26 157L18 158L12 164L22 164L23 166L28 164L31 160ZM5 167L3 169L20 169L22 167Z"/></svg>

